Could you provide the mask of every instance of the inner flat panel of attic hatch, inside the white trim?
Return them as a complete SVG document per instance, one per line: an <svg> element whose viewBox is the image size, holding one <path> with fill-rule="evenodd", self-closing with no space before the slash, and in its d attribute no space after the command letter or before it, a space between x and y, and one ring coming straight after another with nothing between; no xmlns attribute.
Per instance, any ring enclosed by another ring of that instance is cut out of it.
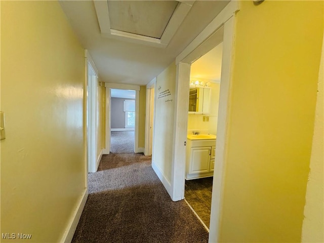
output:
<svg viewBox="0 0 324 243"><path fill-rule="evenodd" d="M177 1L108 1L110 28L161 38Z"/></svg>

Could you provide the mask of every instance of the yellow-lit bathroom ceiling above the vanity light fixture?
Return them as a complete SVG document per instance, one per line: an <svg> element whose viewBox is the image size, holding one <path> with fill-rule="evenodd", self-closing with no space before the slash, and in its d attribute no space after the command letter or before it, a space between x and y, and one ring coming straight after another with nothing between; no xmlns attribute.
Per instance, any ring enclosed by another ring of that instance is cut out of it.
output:
<svg viewBox="0 0 324 243"><path fill-rule="evenodd" d="M214 47L191 64L190 79L202 78L216 82L221 80L223 43Z"/></svg>

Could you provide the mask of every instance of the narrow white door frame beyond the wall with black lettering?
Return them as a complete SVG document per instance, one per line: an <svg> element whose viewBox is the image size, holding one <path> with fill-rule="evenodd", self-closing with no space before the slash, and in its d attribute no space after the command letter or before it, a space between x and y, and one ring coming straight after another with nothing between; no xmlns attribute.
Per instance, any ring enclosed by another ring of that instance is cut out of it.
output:
<svg viewBox="0 0 324 243"><path fill-rule="evenodd" d="M146 85L146 117L145 117L145 145L144 145L144 155L152 155L152 143L153 143L153 136L151 124L153 124L154 128L154 117L155 115L152 114L154 112L154 108L152 109L152 99L153 103L155 101L155 95L152 93L152 89L155 91L155 84L156 84L156 77L154 77L150 83ZM155 113L155 112L154 112ZM151 120L153 117L153 120Z"/></svg>

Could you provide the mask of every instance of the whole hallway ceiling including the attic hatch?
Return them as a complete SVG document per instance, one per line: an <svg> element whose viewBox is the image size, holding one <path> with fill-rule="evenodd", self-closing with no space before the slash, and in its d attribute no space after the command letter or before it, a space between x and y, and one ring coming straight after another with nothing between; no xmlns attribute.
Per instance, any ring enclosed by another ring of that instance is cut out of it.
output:
<svg viewBox="0 0 324 243"><path fill-rule="evenodd" d="M164 7L157 7L160 6L159 2L167 3L163 4ZM228 2L60 1L60 5L80 43L91 54L102 82L146 85L175 60ZM98 4L103 3L106 4L105 8L98 10ZM179 6L183 9L179 9ZM182 15L177 15L176 20L171 21L179 11ZM120 19L121 14L125 18ZM159 16L151 29L147 28L152 22L148 20L149 16ZM168 27L169 24L165 26L167 20L168 23L173 22L172 28ZM101 30L103 28L106 28L106 32ZM123 34L111 34L112 30ZM170 38L168 43L167 37Z"/></svg>

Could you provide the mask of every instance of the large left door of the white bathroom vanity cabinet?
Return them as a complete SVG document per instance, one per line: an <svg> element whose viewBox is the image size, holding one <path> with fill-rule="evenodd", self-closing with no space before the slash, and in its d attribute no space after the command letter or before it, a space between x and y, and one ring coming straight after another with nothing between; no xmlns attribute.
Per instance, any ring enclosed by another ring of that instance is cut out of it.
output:
<svg viewBox="0 0 324 243"><path fill-rule="evenodd" d="M211 147L193 147L190 155L190 174L209 172Z"/></svg>

